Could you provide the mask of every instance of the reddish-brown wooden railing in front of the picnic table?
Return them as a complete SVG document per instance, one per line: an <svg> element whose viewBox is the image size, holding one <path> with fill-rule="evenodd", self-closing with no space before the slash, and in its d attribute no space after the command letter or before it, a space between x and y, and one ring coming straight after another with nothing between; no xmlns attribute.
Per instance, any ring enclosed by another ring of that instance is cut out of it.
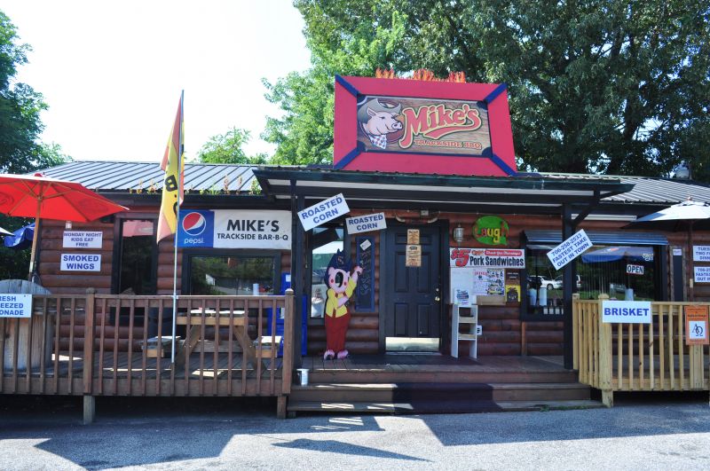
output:
<svg viewBox="0 0 710 471"><path fill-rule="evenodd" d="M172 296L88 290L81 296L34 295L33 301L31 318L0 318L0 394L290 392L290 290L285 296L179 296L175 363L170 361Z"/></svg>

